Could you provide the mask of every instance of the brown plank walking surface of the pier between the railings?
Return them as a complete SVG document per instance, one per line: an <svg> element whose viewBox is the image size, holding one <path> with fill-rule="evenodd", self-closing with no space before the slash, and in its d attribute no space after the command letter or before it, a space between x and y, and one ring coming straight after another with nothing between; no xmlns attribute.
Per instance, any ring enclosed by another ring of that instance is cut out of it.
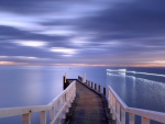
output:
<svg viewBox="0 0 165 124"><path fill-rule="evenodd" d="M76 82L79 95L69 124L108 124L101 97L80 82Z"/></svg>

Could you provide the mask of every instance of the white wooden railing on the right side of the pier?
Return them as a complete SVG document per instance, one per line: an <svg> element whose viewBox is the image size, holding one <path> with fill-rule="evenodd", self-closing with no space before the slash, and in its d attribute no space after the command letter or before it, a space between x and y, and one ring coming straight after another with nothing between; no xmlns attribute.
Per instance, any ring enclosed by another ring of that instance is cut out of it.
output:
<svg viewBox="0 0 165 124"><path fill-rule="evenodd" d="M108 87L108 93L109 108L111 109L112 119L117 121L117 124L125 124L125 112L129 113L129 124L135 123L135 115L142 117L141 124L150 124L151 120L165 123L165 113L129 108L110 86Z"/></svg>

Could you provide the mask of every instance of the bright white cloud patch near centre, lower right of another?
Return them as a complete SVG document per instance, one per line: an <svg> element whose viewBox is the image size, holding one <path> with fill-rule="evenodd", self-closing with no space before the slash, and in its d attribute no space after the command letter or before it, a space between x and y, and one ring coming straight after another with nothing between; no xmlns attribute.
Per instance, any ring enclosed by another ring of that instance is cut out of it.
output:
<svg viewBox="0 0 165 124"><path fill-rule="evenodd" d="M64 53L64 54L67 54L67 55L73 55L73 54L77 53L77 49L65 48L65 47L52 47L51 50L56 52L56 53Z"/></svg>

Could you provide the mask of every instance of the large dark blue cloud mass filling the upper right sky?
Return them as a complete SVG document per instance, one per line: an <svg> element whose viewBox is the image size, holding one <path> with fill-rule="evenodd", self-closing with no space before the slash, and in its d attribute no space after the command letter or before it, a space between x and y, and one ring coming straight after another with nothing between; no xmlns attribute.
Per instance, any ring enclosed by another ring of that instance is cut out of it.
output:
<svg viewBox="0 0 165 124"><path fill-rule="evenodd" d="M85 19L80 29L98 32L101 38L147 37L165 30L165 1L139 0L116 4Z"/></svg>

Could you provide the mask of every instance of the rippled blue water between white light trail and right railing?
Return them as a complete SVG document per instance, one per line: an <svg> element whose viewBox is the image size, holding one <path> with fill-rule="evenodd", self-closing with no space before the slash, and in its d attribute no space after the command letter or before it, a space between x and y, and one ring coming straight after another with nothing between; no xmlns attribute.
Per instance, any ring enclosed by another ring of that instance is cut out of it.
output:
<svg viewBox="0 0 165 124"><path fill-rule="evenodd" d="M165 83L135 76L108 71L107 83L129 106L165 112Z"/></svg>

